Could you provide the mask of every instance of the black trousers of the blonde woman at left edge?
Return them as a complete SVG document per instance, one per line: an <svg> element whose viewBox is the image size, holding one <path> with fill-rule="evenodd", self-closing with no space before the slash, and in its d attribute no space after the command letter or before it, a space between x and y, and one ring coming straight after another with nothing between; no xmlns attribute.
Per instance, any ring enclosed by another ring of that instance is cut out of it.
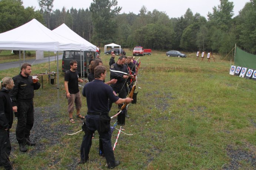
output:
<svg viewBox="0 0 256 170"><path fill-rule="evenodd" d="M12 169L10 163L11 142L9 139L9 129L7 131L0 129L0 163L5 169Z"/></svg>

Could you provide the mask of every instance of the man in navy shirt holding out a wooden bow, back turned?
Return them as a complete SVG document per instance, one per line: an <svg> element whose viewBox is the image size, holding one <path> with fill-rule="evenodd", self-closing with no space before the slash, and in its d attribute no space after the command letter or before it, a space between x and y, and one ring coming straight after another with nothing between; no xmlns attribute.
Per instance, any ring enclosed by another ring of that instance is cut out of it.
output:
<svg viewBox="0 0 256 170"><path fill-rule="evenodd" d="M111 145L110 117L108 102L122 104L130 103L131 98L119 98L114 90L103 81L106 78L106 67L97 66L94 69L94 78L92 82L87 83L83 88L83 96L87 99L88 112L86 123L83 128L85 135L83 137L80 156L80 163L86 163L89 159L90 147L92 145L92 136L94 131L98 131L104 149L107 167L113 169L120 164L115 160L113 148Z"/></svg>

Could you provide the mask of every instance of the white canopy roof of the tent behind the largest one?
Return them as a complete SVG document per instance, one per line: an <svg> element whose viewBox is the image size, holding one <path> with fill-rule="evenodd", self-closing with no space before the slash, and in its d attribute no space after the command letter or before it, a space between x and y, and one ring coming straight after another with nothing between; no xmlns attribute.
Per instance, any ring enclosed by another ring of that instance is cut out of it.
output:
<svg viewBox="0 0 256 170"><path fill-rule="evenodd" d="M66 24L61 24L59 27L53 30L56 34L61 35L62 37L71 39L82 44L83 51L96 51L96 46L86 41L84 38L80 37L76 32L72 31Z"/></svg>

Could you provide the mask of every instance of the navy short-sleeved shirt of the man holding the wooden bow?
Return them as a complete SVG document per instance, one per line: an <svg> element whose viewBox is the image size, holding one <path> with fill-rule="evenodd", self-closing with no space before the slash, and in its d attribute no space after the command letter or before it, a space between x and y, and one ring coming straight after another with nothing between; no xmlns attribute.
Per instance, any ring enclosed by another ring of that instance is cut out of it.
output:
<svg viewBox="0 0 256 170"><path fill-rule="evenodd" d="M119 99L114 90L99 79L86 83L82 94L86 97L88 112L108 112L108 101L114 103Z"/></svg>

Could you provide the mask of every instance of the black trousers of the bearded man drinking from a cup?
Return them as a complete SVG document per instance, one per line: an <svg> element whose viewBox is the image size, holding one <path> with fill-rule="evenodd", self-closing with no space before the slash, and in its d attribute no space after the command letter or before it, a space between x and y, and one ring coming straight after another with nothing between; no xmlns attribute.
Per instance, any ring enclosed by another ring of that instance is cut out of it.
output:
<svg viewBox="0 0 256 170"><path fill-rule="evenodd" d="M33 101L19 102L18 104L18 122L16 127L16 139L19 143L26 142L34 124L34 106Z"/></svg>

